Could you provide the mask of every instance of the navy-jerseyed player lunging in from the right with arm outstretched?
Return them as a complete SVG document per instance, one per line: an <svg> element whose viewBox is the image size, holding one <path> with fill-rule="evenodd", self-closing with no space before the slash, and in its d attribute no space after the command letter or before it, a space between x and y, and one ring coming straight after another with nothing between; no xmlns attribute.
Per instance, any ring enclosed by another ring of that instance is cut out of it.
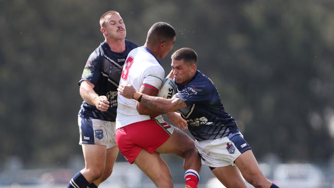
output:
<svg viewBox="0 0 334 188"><path fill-rule="evenodd" d="M226 187L246 187L240 171L255 187L276 188L259 169L251 147L221 104L217 88L196 64L197 54L191 48L173 53L172 68L179 92L172 99L146 95L131 85L120 85L118 91L158 114L179 110L196 139L202 164L207 164Z"/></svg>

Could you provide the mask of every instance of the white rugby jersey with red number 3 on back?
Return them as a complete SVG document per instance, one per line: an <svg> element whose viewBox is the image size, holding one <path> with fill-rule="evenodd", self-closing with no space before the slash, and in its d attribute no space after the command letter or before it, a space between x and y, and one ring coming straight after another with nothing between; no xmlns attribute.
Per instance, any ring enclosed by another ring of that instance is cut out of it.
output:
<svg viewBox="0 0 334 188"><path fill-rule="evenodd" d="M163 79L164 69L150 49L141 46L129 52L121 74L120 85L131 84L137 91L140 90L142 85L145 85L158 92ZM139 114L136 108L136 100L126 99L118 95L117 101L116 129L131 123L151 119L150 116Z"/></svg>

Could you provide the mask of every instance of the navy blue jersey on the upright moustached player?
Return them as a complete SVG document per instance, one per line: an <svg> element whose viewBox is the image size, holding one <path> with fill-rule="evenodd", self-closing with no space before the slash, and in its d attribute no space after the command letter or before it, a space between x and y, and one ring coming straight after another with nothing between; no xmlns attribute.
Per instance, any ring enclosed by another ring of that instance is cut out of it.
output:
<svg viewBox="0 0 334 188"><path fill-rule="evenodd" d="M100 111L94 105L83 101L79 111L80 117L106 121L116 120L117 87L123 65L127 54L138 46L131 41L125 40L125 47L122 53L116 53L110 50L109 45L104 41L90 54L79 85L84 80L94 84L94 91L99 96L106 96L110 106L107 111Z"/></svg>

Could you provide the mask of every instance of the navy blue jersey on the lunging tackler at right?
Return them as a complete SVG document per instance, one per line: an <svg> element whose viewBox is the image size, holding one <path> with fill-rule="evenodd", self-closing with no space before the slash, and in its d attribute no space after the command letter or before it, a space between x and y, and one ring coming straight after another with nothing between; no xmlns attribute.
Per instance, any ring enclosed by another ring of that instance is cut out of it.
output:
<svg viewBox="0 0 334 188"><path fill-rule="evenodd" d="M187 104L179 111L196 140L221 138L239 131L221 104L216 86L199 70L187 85L177 84L177 89L174 97Z"/></svg>

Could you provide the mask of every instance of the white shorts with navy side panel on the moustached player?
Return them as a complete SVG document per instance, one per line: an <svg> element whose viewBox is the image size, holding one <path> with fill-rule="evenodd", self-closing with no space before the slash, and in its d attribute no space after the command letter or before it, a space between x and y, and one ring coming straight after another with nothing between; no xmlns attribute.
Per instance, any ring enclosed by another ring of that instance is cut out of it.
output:
<svg viewBox="0 0 334 188"><path fill-rule="evenodd" d="M117 146L115 122L78 117L80 131L79 144L105 145L107 148Z"/></svg>

